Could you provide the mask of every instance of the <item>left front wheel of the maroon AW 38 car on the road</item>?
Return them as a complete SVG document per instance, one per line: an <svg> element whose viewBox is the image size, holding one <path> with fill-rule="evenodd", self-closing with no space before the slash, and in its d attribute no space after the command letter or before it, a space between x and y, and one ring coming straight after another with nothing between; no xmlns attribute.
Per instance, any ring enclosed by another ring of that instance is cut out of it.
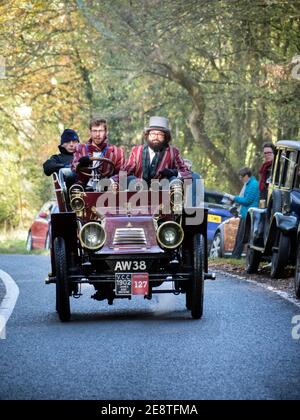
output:
<svg viewBox="0 0 300 420"><path fill-rule="evenodd" d="M67 273L67 258L65 241L62 238L54 240L54 257L56 269L56 310L62 322L71 318L70 296Z"/></svg>

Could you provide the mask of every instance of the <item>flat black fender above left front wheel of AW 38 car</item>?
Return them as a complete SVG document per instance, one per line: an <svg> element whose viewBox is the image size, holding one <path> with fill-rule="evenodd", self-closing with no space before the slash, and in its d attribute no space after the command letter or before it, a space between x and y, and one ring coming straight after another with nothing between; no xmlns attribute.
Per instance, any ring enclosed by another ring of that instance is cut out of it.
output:
<svg viewBox="0 0 300 420"><path fill-rule="evenodd" d="M51 214L51 265L55 274L54 240L61 237L65 240L68 267L79 263L77 219L74 212Z"/></svg>

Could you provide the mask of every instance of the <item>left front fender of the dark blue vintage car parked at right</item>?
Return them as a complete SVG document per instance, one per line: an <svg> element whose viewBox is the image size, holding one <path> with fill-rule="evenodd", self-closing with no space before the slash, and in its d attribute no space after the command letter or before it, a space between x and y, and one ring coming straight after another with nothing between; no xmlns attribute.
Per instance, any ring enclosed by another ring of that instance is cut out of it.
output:
<svg viewBox="0 0 300 420"><path fill-rule="evenodd" d="M248 210L243 242L249 245L264 247L264 227L267 209L251 207Z"/></svg>

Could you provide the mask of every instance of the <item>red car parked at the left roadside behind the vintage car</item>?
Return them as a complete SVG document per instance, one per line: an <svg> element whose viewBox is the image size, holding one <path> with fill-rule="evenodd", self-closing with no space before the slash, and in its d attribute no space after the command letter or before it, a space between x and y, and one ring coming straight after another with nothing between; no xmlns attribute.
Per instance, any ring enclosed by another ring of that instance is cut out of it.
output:
<svg viewBox="0 0 300 420"><path fill-rule="evenodd" d="M50 219L52 213L58 212L55 200L47 201L36 215L27 235L26 249L49 249L50 248Z"/></svg>

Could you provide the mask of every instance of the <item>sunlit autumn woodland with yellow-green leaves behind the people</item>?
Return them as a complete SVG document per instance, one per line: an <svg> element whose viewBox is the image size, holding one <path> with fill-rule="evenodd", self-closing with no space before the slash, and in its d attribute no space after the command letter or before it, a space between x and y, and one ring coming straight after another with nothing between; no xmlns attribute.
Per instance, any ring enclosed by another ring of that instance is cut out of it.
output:
<svg viewBox="0 0 300 420"><path fill-rule="evenodd" d="M265 141L299 139L299 54L300 1L0 1L0 227L28 225L60 133L96 115L127 153L168 116L206 186L238 192Z"/></svg>

